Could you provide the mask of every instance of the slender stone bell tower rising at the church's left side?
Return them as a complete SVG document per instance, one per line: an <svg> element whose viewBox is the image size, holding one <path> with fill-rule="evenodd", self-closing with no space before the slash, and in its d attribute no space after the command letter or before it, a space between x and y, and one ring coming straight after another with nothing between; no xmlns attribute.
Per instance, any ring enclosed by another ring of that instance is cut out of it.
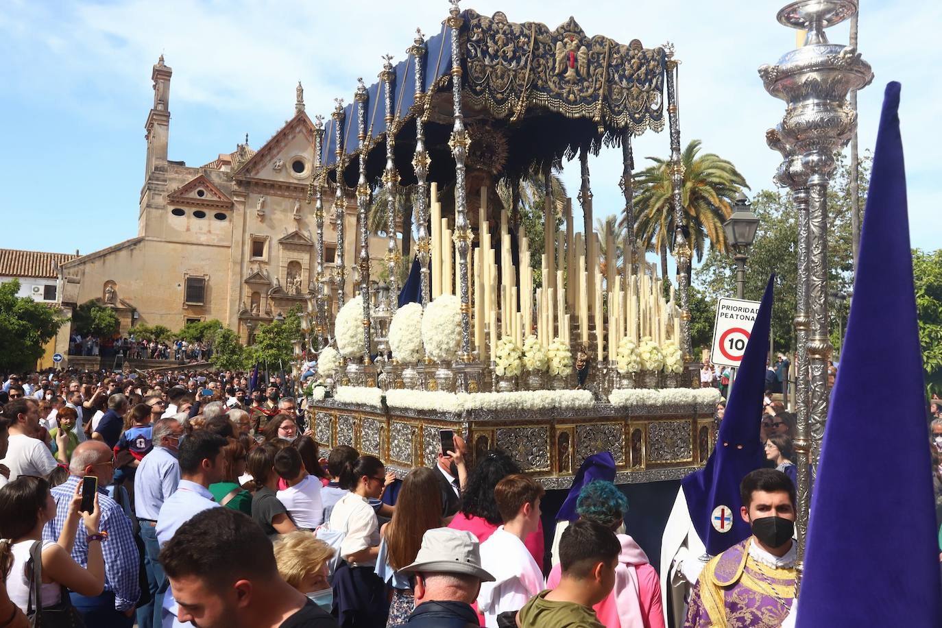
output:
<svg viewBox="0 0 942 628"><path fill-rule="evenodd" d="M144 235L148 210L162 210L164 194L167 192L167 143L171 129L171 74L161 55L154 64L151 79L154 81L154 106L144 124L147 141L147 163L144 185L140 190L140 215L138 235Z"/></svg>

